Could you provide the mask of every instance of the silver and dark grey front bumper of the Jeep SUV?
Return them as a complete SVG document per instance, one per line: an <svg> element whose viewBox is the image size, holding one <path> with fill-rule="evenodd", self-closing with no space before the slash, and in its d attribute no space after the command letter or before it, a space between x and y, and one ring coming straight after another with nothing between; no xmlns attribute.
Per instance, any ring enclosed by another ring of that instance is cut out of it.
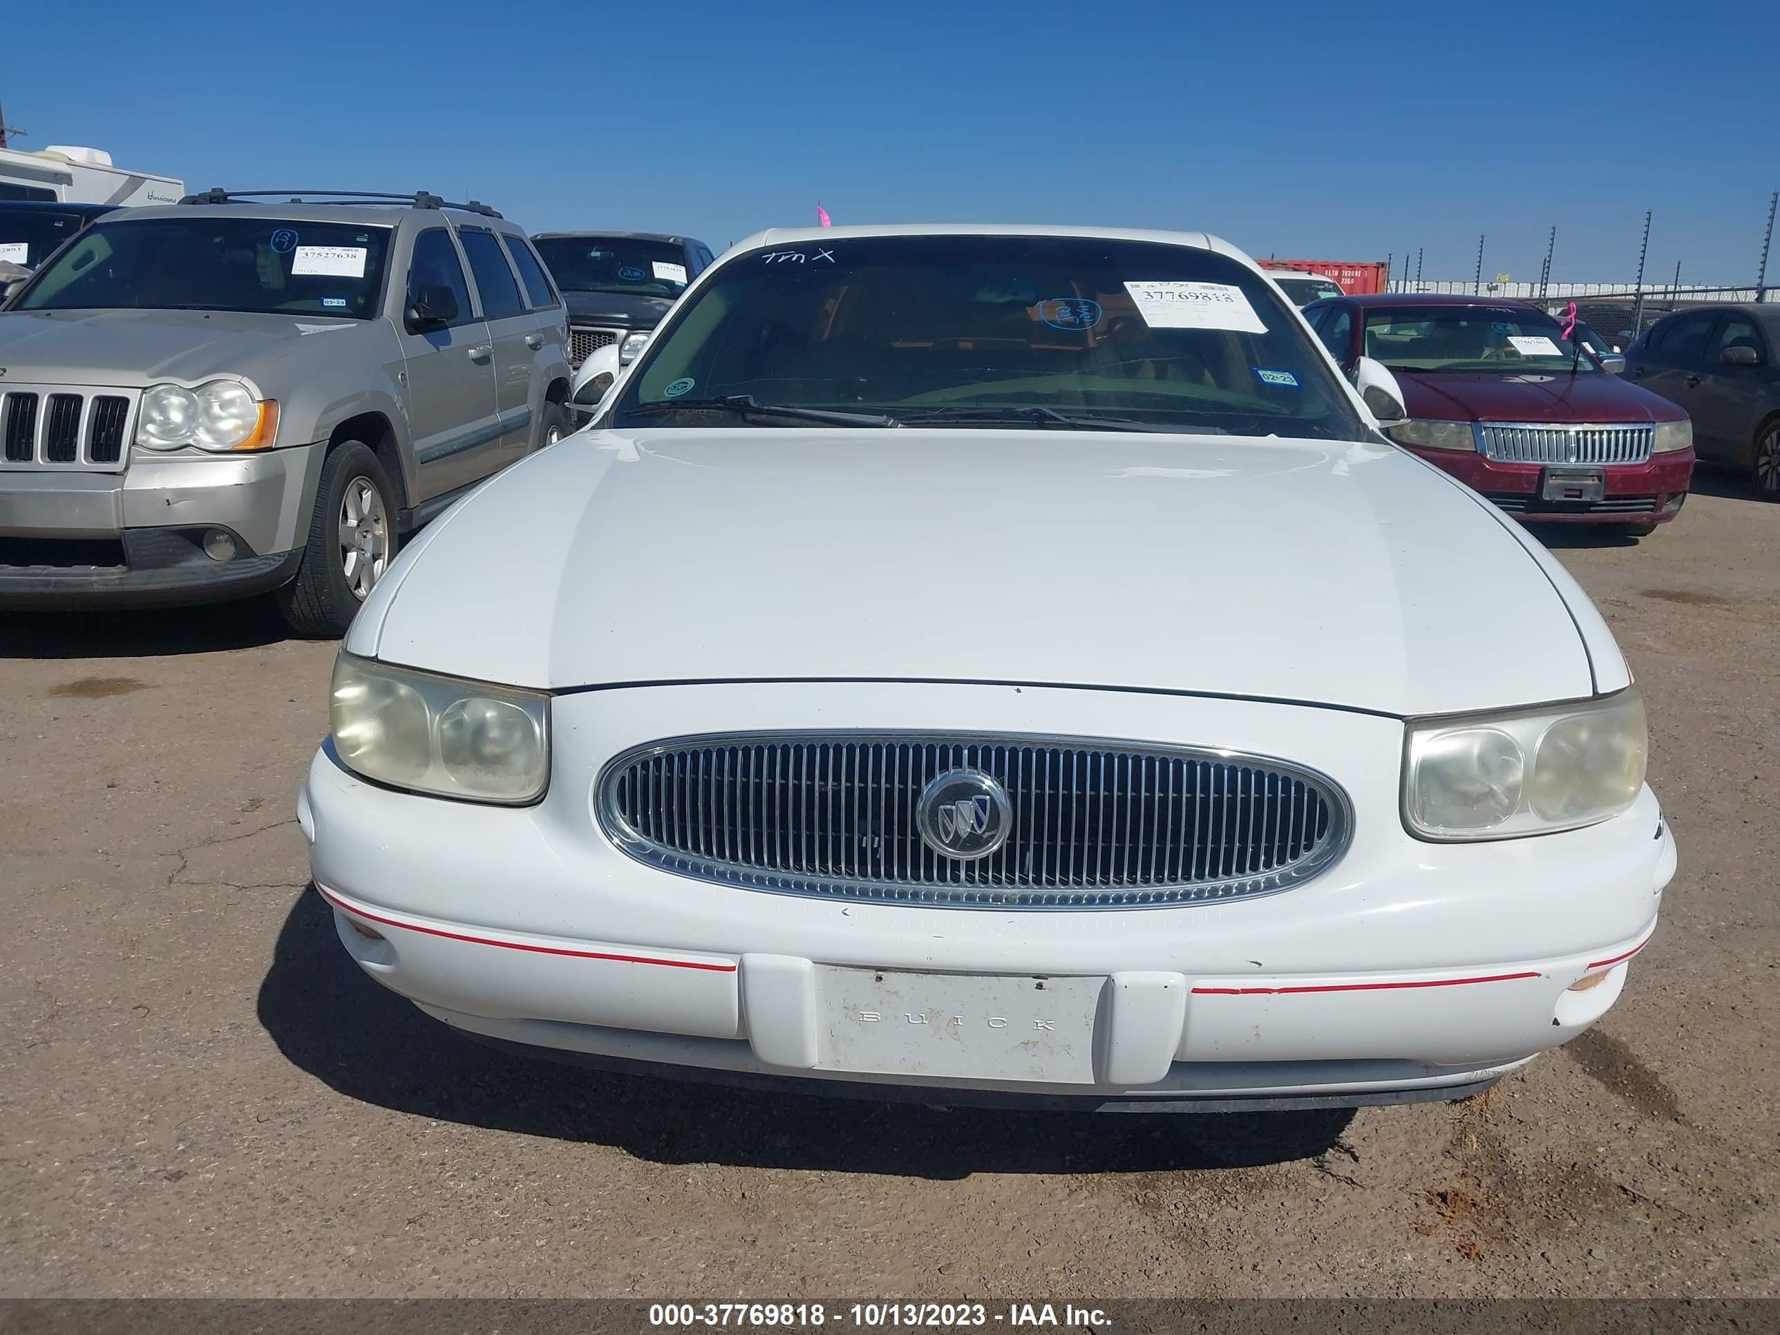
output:
<svg viewBox="0 0 1780 1335"><path fill-rule="evenodd" d="M0 609L247 598L303 561L324 450L132 459L128 472L0 472ZM214 561L221 529L235 555Z"/></svg>

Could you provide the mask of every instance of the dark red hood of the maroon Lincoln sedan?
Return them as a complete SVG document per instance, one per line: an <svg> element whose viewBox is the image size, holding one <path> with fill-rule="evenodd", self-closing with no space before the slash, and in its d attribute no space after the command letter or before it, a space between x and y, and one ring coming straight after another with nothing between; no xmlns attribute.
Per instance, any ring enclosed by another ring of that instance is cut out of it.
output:
<svg viewBox="0 0 1780 1335"><path fill-rule="evenodd" d="M1687 415L1618 376L1396 370L1410 417L1447 422L1677 422Z"/></svg>

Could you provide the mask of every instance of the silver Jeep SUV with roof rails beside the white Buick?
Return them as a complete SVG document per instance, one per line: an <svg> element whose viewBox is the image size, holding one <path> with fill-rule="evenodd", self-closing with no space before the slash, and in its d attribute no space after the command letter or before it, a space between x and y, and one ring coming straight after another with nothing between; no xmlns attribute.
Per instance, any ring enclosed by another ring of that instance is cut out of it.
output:
<svg viewBox="0 0 1780 1335"><path fill-rule="evenodd" d="M276 591L345 632L402 536L568 434L525 233L431 194L98 221L0 313L0 607Z"/></svg>

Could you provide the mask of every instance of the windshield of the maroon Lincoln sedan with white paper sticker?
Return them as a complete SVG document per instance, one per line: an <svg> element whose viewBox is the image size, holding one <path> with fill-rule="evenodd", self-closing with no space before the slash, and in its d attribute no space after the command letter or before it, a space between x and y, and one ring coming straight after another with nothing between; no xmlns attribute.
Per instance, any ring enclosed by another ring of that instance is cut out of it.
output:
<svg viewBox="0 0 1780 1335"><path fill-rule="evenodd" d="M1558 320L1524 306L1404 306L1365 313L1365 354L1392 370L1598 370L1558 333Z"/></svg>

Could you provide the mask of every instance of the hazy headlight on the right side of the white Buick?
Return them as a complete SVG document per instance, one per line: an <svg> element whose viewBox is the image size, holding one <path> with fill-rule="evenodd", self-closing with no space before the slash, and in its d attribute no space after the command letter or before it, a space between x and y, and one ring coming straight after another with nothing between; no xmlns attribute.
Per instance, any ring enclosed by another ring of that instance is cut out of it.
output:
<svg viewBox="0 0 1780 1335"><path fill-rule="evenodd" d="M1403 821L1433 840L1515 838L1607 821L1638 797L1648 737L1636 691L1581 705L1410 723Z"/></svg>

